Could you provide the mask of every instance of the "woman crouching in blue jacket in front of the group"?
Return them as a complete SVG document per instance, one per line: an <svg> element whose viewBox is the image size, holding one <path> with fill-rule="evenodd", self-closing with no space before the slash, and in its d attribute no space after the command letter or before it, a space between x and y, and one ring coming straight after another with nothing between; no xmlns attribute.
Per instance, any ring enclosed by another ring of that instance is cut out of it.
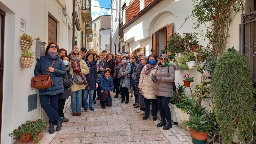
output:
<svg viewBox="0 0 256 144"><path fill-rule="evenodd" d="M108 107L112 106L112 98L113 95L112 90L114 89L113 79L110 76L111 70L110 68L104 69L102 76L99 79L99 89L97 90L97 94L100 98L100 103L102 109L105 109L105 103Z"/></svg>

